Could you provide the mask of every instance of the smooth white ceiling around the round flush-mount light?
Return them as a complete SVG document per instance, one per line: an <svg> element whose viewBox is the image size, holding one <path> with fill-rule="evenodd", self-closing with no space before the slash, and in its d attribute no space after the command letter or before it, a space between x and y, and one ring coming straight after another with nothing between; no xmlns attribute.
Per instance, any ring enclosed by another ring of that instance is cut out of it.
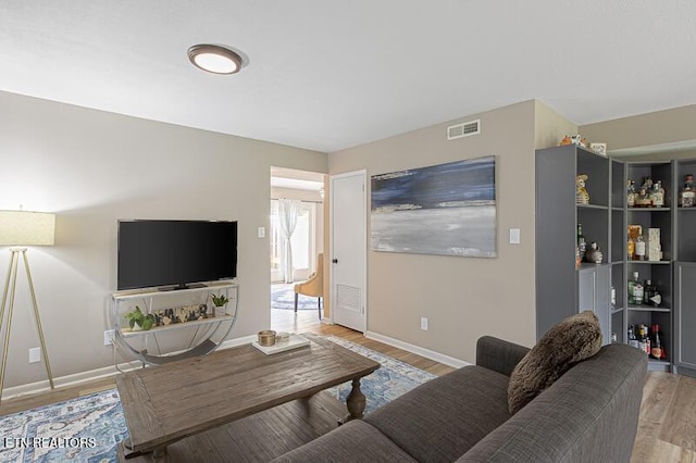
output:
<svg viewBox="0 0 696 463"><path fill-rule="evenodd" d="M187 59L243 51L236 75ZM696 103L694 0L0 0L0 90L337 151L537 98Z"/></svg>

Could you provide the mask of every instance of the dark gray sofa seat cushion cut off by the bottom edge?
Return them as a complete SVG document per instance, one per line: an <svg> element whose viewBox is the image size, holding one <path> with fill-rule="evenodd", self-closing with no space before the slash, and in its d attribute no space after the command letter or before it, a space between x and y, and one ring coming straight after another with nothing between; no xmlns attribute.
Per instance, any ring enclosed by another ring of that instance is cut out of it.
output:
<svg viewBox="0 0 696 463"><path fill-rule="evenodd" d="M300 448L273 460L273 463L325 462L414 462L376 428L355 420Z"/></svg>

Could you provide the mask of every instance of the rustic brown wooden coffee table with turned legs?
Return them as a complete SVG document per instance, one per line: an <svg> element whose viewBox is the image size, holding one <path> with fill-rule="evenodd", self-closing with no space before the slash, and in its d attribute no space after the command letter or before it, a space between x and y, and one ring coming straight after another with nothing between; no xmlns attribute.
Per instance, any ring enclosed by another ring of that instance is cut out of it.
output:
<svg viewBox="0 0 696 463"><path fill-rule="evenodd" d="M302 336L310 346L273 355L246 345L119 375L130 434L122 442L124 456L153 452L165 461L173 442L348 380L347 418L362 417L360 378L380 364L321 337Z"/></svg>

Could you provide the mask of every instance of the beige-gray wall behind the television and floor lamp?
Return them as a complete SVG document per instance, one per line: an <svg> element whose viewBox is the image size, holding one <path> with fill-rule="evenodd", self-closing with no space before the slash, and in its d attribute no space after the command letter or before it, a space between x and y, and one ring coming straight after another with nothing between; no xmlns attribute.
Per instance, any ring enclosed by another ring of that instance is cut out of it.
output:
<svg viewBox="0 0 696 463"><path fill-rule="evenodd" d="M0 92L0 209L55 212L57 239L28 251L54 376L112 364L103 346L115 290L116 220L239 221L240 317L270 325L270 167L325 173L325 153ZM268 236L268 235L266 235ZM4 271L10 253L0 249ZM5 387L44 380L24 271ZM4 280L5 274L0 277Z"/></svg>

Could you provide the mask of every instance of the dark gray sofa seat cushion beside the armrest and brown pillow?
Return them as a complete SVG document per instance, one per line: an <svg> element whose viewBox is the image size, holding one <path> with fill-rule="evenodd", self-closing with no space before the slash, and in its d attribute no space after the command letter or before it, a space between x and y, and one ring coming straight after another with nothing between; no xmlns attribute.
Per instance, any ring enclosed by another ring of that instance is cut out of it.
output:
<svg viewBox="0 0 696 463"><path fill-rule="evenodd" d="M507 376L464 366L417 387L364 421L418 461L451 462L510 417L507 396Z"/></svg>

